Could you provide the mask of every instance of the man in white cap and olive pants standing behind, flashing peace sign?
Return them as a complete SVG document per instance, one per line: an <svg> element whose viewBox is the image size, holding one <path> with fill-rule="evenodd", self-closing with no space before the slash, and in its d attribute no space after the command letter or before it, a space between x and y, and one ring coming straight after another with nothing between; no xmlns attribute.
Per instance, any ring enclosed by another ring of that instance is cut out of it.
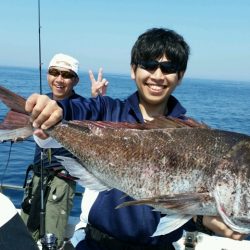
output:
<svg viewBox="0 0 250 250"><path fill-rule="evenodd" d="M75 58L56 54L51 59L47 81L51 92L47 95L56 101L81 101L84 98L75 93L74 87L79 82L79 62ZM102 88L106 87L107 81L102 79L102 71L99 71L98 79L92 85L92 95L96 96ZM69 114L67 119L77 119L75 112ZM22 204L22 218L27 223L33 237L39 239L39 212L40 212L40 166L41 148L36 145L34 163L28 168L33 170L34 175L27 187L27 194ZM76 183L72 176L64 169L55 155L73 157L64 148L50 148L43 152L43 166L45 175L45 231L54 233L60 247L65 236L65 228L73 206ZM32 201L32 202L31 202Z"/></svg>

